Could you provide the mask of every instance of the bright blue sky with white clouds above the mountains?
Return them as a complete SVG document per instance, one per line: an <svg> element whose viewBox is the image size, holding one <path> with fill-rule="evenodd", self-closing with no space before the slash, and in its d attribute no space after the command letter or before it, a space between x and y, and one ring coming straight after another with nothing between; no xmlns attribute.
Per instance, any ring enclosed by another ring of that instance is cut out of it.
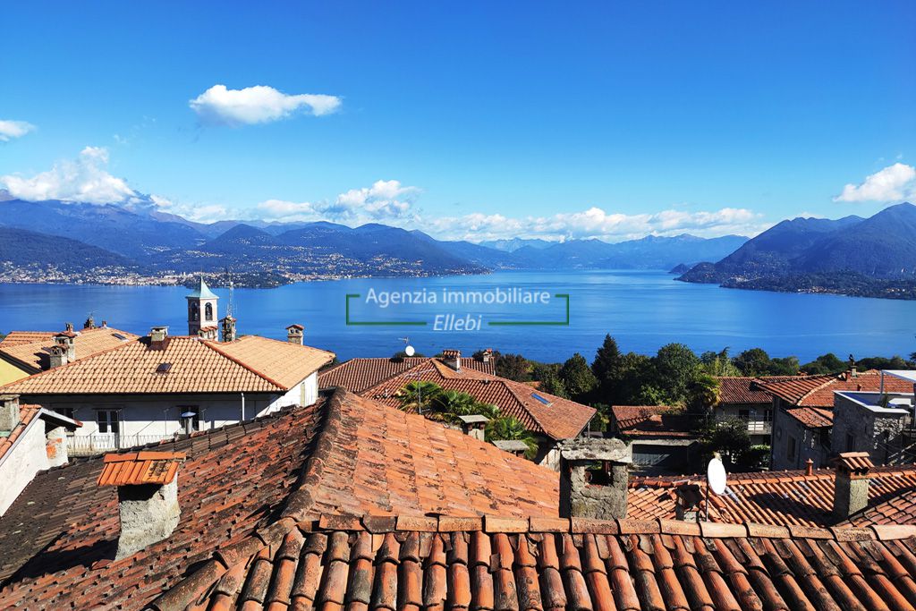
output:
<svg viewBox="0 0 916 611"><path fill-rule="evenodd" d="M4 9L0 188L481 241L755 235L916 191L916 3Z"/></svg>

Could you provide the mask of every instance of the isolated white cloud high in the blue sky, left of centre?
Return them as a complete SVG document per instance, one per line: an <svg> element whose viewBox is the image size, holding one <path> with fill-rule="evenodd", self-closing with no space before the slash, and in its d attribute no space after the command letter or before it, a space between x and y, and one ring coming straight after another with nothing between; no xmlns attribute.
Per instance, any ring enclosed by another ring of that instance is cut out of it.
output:
<svg viewBox="0 0 916 611"><path fill-rule="evenodd" d="M207 123L217 125L253 125L285 119L297 112L330 115L341 105L334 95L300 93L288 95L273 87L257 85L245 89L226 89L213 85L188 104Z"/></svg>

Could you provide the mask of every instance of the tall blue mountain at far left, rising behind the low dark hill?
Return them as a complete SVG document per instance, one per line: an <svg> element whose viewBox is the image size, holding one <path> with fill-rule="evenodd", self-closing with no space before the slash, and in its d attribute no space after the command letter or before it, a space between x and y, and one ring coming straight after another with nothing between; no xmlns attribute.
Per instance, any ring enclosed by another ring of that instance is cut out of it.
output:
<svg viewBox="0 0 916 611"><path fill-rule="evenodd" d="M124 206L57 200L2 202L0 226L77 239L131 258L190 248L206 239L187 224L159 221Z"/></svg>

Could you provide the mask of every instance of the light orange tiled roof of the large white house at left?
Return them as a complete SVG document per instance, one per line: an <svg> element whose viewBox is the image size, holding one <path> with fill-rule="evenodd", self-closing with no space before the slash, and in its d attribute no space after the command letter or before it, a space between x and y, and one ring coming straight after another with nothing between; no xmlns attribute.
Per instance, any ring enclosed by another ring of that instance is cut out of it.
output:
<svg viewBox="0 0 916 611"><path fill-rule="evenodd" d="M323 350L256 335L232 343L171 336L161 346L143 337L0 388L21 395L277 392L332 359Z"/></svg>

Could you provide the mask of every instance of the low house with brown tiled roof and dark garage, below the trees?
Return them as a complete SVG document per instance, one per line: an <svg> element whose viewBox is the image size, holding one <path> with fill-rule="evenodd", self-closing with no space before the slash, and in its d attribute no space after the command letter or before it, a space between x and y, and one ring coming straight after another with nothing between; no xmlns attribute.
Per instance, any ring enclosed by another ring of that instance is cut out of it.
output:
<svg viewBox="0 0 916 611"><path fill-rule="evenodd" d="M609 434L627 440L640 473L684 473L697 467L699 435L690 416L667 406L616 405Z"/></svg>

